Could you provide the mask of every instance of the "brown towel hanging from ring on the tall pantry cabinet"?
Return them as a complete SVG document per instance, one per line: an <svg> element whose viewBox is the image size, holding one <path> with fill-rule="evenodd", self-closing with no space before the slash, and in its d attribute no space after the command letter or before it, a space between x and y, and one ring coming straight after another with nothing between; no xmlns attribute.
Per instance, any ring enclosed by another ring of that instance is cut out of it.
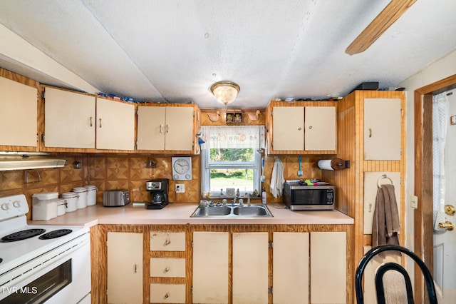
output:
<svg viewBox="0 0 456 304"><path fill-rule="evenodd" d="M399 245L400 220L393 185L378 188L373 213L372 246Z"/></svg>

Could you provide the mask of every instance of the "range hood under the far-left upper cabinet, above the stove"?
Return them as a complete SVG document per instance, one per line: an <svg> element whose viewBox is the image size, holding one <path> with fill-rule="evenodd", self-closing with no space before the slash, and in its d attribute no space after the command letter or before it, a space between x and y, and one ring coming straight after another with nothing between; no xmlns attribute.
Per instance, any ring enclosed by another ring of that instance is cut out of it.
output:
<svg viewBox="0 0 456 304"><path fill-rule="evenodd" d="M0 152L0 171L61 168L66 163L66 159L49 153Z"/></svg>

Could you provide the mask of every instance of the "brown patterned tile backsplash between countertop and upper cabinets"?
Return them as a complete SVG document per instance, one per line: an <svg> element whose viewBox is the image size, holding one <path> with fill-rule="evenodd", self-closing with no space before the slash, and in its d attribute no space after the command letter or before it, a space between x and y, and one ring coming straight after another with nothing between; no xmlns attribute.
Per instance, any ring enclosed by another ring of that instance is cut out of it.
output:
<svg viewBox="0 0 456 304"><path fill-rule="evenodd" d="M23 171L0 171L0 196L12 196L24 193L31 209L31 196L40 192L64 193L72 188L86 185L98 187L97 204L103 203L103 191L126 188L130 191L132 202L150 201L150 194L145 190L145 182L152 178L169 178L170 203L197 203L200 195L200 156L192 156L192 181L179 181L185 184L185 193L175 193L175 181L172 181L171 156L150 156L142 154L61 154L68 161L63 168L49 168ZM153 158L155 168L147 166L147 160ZM298 156L281 156L284 163L284 178L298 178ZM280 203L281 198L274 198L269 193L269 181L275 158L266 157L264 175L268 203ZM73 168L75 161L83 164L82 168ZM316 167L318 158L303 158L299 178L321 178L321 170ZM40 178L38 178L38 174ZM26 182L28 181L28 182ZM27 214L31 218L31 212Z"/></svg>

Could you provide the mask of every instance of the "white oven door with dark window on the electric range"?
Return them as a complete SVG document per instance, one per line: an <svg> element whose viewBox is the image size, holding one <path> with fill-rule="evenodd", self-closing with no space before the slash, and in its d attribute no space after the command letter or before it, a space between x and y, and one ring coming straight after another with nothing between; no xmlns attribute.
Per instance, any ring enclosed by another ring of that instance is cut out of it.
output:
<svg viewBox="0 0 456 304"><path fill-rule="evenodd" d="M0 304L90 303L90 238L83 237L86 240L70 250L61 252L62 249L56 248L46 253L49 260L35 273L24 273L19 282L1 286Z"/></svg>

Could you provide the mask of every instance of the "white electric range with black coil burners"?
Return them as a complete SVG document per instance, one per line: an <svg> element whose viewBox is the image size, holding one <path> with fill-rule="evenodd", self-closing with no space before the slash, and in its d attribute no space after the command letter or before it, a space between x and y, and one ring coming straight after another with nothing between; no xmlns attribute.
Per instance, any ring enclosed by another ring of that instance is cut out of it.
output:
<svg viewBox="0 0 456 304"><path fill-rule="evenodd" d="M26 197L0 198L0 304L90 303L84 226L30 226Z"/></svg>

